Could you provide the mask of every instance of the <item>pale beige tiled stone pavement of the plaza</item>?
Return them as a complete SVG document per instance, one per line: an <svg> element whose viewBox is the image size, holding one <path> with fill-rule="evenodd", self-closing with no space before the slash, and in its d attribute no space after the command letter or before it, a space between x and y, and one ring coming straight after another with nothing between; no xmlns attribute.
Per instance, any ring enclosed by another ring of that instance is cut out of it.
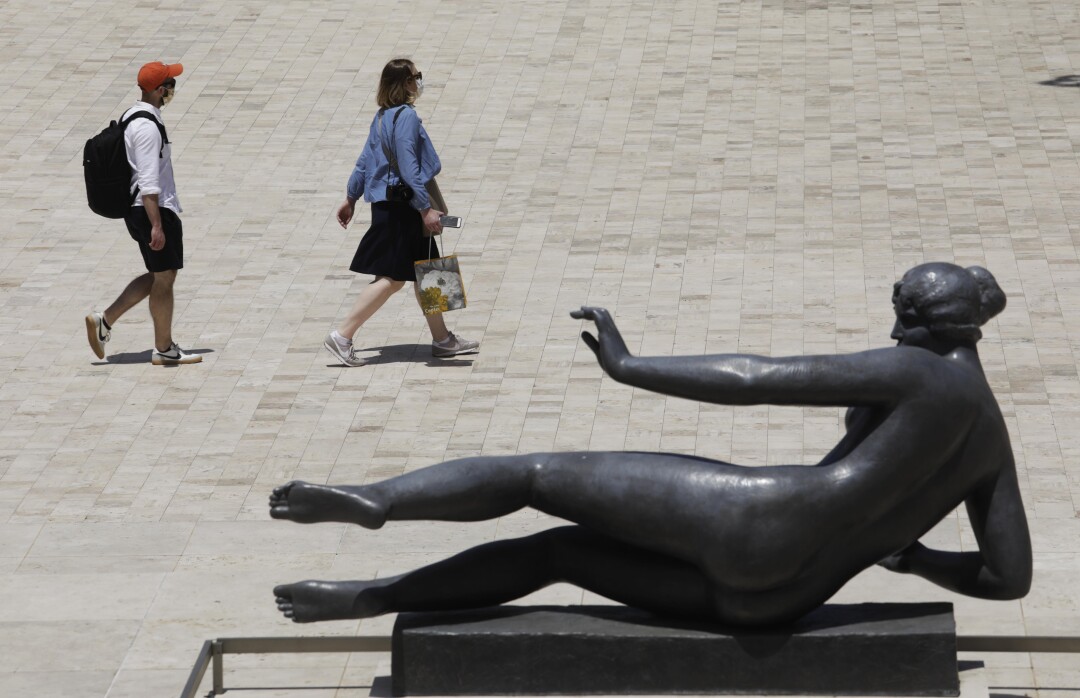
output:
<svg viewBox="0 0 1080 698"><path fill-rule="evenodd" d="M408 293L320 344L364 283L333 220L391 56L467 226L475 358L432 361ZM140 270L83 203L80 150L183 62L165 110L188 266L149 364L144 307L107 362L82 317ZM634 448L809 462L834 410L730 410L602 378L568 311L653 354L888 344L894 279L981 264L1009 308L983 359L1036 549L1023 602L870 571L842 600L951 600L962 633L1080 633L1080 6L1074 0L5 0L0 3L0 695L178 695L203 640L298 628L274 583L386 575L551 525L272 522L292 478L359 483L467 454ZM1048 84L1049 83L1049 84ZM932 532L973 545L962 515ZM576 603L552 588L538 599ZM590 601L596 601L590 599ZM987 656L993 693L1072 696L1080 662ZM367 695L386 657L238 658L245 695Z"/></svg>

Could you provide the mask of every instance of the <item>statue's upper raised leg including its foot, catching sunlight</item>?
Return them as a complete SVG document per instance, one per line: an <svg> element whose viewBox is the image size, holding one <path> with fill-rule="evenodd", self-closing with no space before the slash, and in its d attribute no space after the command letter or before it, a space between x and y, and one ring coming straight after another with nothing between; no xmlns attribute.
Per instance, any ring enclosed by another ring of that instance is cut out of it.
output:
<svg viewBox="0 0 1080 698"><path fill-rule="evenodd" d="M658 453L581 452L449 460L369 485L291 482L270 514L378 528L388 520L482 521L531 506L698 563L702 538L739 515L742 469Z"/></svg>

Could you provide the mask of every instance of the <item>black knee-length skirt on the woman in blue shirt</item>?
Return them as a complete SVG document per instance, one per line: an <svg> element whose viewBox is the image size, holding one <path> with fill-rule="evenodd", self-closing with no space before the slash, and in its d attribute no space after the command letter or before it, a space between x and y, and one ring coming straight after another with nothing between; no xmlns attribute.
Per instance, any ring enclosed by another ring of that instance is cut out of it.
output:
<svg viewBox="0 0 1080 698"><path fill-rule="evenodd" d="M423 218L407 203L372 204L372 227L356 247L349 269L356 273L416 281L413 263L438 257L433 238L423 237Z"/></svg>

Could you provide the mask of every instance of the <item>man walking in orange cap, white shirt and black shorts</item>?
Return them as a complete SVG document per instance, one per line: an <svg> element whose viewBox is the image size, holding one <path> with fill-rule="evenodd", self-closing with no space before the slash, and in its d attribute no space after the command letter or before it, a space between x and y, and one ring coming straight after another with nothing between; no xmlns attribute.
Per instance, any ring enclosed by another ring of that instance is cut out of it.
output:
<svg viewBox="0 0 1080 698"><path fill-rule="evenodd" d="M184 72L178 63L148 63L138 71L139 102L123 119L145 111L151 119L133 119L124 131L124 148L132 169L131 190L135 200L124 218L127 232L138 243L147 273L136 277L104 312L86 316L86 338L98 359L105 358L105 343L112 325L144 298L150 299L153 319L154 365L198 363L202 355L183 351L173 341L173 282L184 268L184 227L180 202L173 178L172 147L161 120L161 108L176 91L176 77Z"/></svg>

